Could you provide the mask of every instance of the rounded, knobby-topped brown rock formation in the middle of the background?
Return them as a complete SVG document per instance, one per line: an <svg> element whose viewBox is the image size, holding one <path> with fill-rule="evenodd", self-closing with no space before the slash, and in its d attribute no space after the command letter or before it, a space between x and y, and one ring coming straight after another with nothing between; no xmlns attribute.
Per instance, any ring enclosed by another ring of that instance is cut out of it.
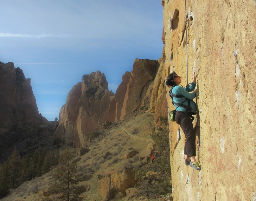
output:
<svg viewBox="0 0 256 201"><path fill-rule="evenodd" d="M68 94L59 114L56 137L85 147L92 131L101 129L109 117L109 104L114 94L108 91L108 82L100 71L83 75L82 83Z"/></svg>

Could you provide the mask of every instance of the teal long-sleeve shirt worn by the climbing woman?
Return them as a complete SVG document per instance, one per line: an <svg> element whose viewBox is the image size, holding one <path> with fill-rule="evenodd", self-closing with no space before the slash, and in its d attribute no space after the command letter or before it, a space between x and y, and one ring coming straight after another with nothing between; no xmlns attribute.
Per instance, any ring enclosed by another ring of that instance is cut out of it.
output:
<svg viewBox="0 0 256 201"><path fill-rule="evenodd" d="M196 103L192 100L196 97L196 92L189 93L189 92L194 91L195 88L196 88L196 83L193 83L193 82L191 83L190 87L188 88L188 91L186 91L185 87L183 88L180 85L177 85L177 86L173 87L172 93L174 95L183 95L184 96L183 98L173 97L173 102L180 104L184 100L186 100L187 98L190 99L191 112L196 114L197 113L197 106L196 106ZM170 91L170 93L171 93L171 91ZM188 105L188 100L186 100L183 104ZM185 112L186 111L185 107L181 107L181 106L178 107L177 105L174 105L174 106L175 106L175 109L177 111L180 111L180 112Z"/></svg>

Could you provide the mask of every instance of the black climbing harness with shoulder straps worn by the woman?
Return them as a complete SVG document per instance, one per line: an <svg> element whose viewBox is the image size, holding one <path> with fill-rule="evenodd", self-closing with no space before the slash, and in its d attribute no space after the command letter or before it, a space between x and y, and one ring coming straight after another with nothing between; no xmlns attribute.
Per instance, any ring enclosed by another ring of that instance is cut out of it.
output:
<svg viewBox="0 0 256 201"><path fill-rule="evenodd" d="M172 93L172 89L175 87L175 86L178 86L178 85L173 85L171 90L169 91L169 95L171 96L172 98L172 104L175 106L178 106L178 107L184 107L186 108L184 114L181 116L181 121L185 118L185 116L187 115L187 113L189 112L190 114L190 118L192 119L192 121L194 120L194 116L193 116L193 113L192 113L192 108L190 107L190 99L186 98L186 100L184 100L182 103L176 103L173 101L173 97L175 98L183 98L185 96L183 95L175 95ZM183 86L182 86L183 87ZM183 103L186 102L188 100L188 105L184 105ZM177 107L177 108L178 108ZM174 122L175 121L175 114L177 112L177 108L175 110L172 110L170 113L171 113L171 121Z"/></svg>

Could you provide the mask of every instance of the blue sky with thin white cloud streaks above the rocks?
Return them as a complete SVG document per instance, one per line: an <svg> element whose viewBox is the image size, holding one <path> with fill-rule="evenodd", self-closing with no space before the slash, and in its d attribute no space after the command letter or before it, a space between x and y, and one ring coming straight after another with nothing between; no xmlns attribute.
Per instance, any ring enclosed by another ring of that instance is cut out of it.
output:
<svg viewBox="0 0 256 201"><path fill-rule="evenodd" d="M20 67L39 112L59 117L84 74L101 71L116 92L139 59L159 59L160 0L1 0L0 60Z"/></svg>

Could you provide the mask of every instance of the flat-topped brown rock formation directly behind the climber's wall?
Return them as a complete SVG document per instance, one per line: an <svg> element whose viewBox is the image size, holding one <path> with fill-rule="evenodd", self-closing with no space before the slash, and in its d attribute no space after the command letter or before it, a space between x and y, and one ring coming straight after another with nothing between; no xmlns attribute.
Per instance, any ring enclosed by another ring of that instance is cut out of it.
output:
<svg viewBox="0 0 256 201"><path fill-rule="evenodd" d="M164 62L162 59L135 59L132 72L126 72L109 106L109 121L123 120L139 109L151 109L156 121L167 116ZM164 109L165 108L165 109Z"/></svg>

